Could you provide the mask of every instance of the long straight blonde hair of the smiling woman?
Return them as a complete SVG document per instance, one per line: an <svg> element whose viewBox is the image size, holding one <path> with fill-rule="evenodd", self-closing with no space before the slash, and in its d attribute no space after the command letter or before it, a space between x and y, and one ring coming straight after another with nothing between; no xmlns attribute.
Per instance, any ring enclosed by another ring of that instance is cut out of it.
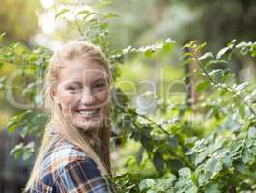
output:
<svg viewBox="0 0 256 193"><path fill-rule="evenodd" d="M90 141L90 137L92 138L92 136L86 137L79 129L66 123L59 105L56 106L51 96L51 90L57 84L59 71L64 68L64 62L76 57L81 57L85 60L93 60L98 62L100 65L103 65L108 76L108 81L111 83L109 64L100 47L88 42L71 41L53 54L45 76L44 92L44 107L50 113L50 121L45 127L41 147L24 192L28 192L33 186L33 182L39 177L40 165L43 161L43 157L46 155L51 144L57 138L56 135L51 134L51 132L54 131L53 129L57 129L64 138L86 152L86 154L88 154L97 163L103 175L111 175L109 150L110 103L105 107L104 124L102 127L92 130L93 132L96 132L95 138L93 138L92 142L92 139Z"/></svg>

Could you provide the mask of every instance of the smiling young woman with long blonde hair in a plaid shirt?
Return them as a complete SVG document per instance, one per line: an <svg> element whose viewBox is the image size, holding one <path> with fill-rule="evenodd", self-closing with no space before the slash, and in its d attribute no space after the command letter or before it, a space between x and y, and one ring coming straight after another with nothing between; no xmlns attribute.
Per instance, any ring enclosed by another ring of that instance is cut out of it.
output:
<svg viewBox="0 0 256 193"><path fill-rule="evenodd" d="M99 47L71 41L56 51L45 78L50 115L24 192L112 192L109 162L110 83Z"/></svg>

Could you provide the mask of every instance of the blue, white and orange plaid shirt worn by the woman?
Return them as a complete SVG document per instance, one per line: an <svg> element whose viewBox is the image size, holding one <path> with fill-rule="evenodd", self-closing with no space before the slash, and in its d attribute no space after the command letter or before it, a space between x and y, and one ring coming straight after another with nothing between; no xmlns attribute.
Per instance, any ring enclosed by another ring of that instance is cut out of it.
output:
<svg viewBox="0 0 256 193"><path fill-rule="evenodd" d="M96 163L63 138L44 157L31 193L108 193L110 186Z"/></svg>

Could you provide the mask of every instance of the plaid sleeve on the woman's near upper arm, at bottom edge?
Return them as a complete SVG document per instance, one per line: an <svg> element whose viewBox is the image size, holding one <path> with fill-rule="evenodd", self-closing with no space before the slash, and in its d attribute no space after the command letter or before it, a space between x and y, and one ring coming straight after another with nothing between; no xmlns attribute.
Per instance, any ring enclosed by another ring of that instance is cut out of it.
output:
<svg viewBox="0 0 256 193"><path fill-rule="evenodd" d="M96 163L88 158L67 164L55 182L63 193L110 193L107 180L102 177Z"/></svg>

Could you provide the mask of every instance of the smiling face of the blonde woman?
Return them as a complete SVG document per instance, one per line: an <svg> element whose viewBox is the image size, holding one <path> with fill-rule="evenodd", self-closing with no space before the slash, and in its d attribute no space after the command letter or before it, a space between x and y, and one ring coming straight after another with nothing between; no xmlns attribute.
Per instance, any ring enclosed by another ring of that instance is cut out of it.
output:
<svg viewBox="0 0 256 193"><path fill-rule="evenodd" d="M66 61L52 95L69 124L84 130L100 127L109 101L105 67L81 58Z"/></svg>

